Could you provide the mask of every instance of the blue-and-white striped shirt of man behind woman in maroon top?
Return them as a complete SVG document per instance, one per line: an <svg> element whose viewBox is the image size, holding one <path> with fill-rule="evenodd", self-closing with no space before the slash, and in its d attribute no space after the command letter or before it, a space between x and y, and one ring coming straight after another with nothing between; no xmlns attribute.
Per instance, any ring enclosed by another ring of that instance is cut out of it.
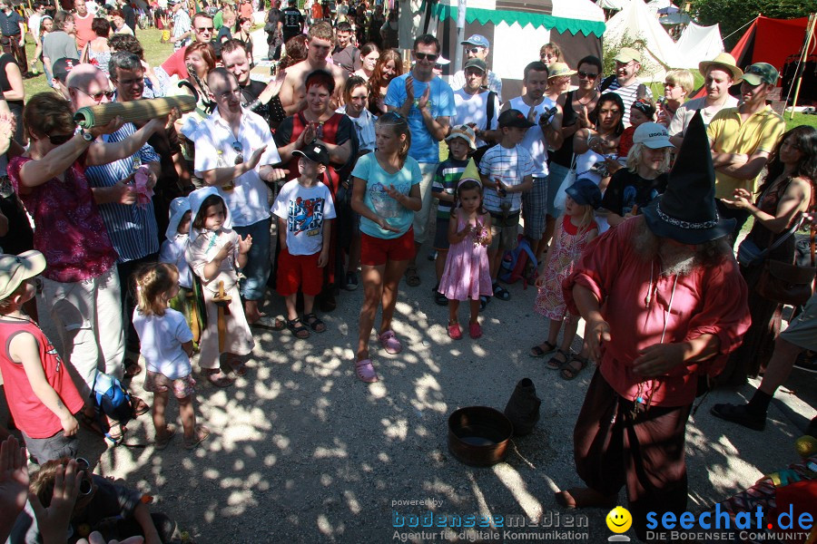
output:
<svg viewBox="0 0 817 544"><path fill-rule="evenodd" d="M127 122L113 134L103 134L103 141L123 141L136 131L133 123ZM114 160L108 164L89 166L85 177L91 187L113 187L133 172L135 158L142 164L159 162L159 155L153 147L145 143L141 150L127 159ZM146 257L159 251L159 229L153 215L153 202L146 206L138 204L100 204L99 213L103 217L108 236L113 248L119 254L117 262L125 263L137 258Z"/></svg>

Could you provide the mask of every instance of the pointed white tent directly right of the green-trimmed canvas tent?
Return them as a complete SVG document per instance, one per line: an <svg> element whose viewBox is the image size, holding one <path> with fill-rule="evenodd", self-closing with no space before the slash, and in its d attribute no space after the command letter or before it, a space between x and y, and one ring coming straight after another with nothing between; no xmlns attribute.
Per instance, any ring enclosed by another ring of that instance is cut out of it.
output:
<svg viewBox="0 0 817 544"><path fill-rule="evenodd" d="M678 48L644 2L633 1L607 21L605 47L617 47L624 41L644 40L645 56L639 79L663 82L666 71L684 65Z"/></svg>

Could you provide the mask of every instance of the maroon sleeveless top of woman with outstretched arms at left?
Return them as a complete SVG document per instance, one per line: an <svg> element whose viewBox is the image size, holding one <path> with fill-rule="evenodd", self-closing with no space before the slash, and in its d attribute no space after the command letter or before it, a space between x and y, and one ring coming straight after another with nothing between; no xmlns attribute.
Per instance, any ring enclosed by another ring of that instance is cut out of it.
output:
<svg viewBox="0 0 817 544"><path fill-rule="evenodd" d="M61 283L102 276L116 263L116 251L85 179L80 157L65 174L37 187L20 190L20 169L32 160L15 157L8 177L34 217L34 249L48 266L43 276ZM26 192L27 191L27 192Z"/></svg>

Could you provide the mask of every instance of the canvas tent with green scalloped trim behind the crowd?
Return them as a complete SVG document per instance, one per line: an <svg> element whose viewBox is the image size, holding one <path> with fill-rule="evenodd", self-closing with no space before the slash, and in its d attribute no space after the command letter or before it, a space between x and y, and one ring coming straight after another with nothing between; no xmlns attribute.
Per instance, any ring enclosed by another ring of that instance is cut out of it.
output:
<svg viewBox="0 0 817 544"><path fill-rule="evenodd" d="M482 34L490 41L488 65L502 78L506 97L519 94L525 66L539 60L539 49L548 42L562 49L570 66L588 54L601 57L605 15L590 0L468 0L467 5L464 36ZM443 55L454 59L461 47L458 2L441 0L432 11ZM450 73L458 69L452 65Z"/></svg>

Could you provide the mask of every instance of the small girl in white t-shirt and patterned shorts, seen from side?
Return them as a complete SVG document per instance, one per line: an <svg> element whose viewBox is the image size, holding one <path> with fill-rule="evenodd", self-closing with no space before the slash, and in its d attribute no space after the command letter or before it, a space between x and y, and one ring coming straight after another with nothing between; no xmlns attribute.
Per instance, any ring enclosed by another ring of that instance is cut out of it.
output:
<svg viewBox="0 0 817 544"><path fill-rule="evenodd" d="M136 308L133 327L139 335L141 352L147 362L144 390L153 393L153 427L156 449L163 450L176 433L175 425L165 423L164 410L170 392L179 402L184 427L184 447L192 450L210 434L196 425L193 407L195 380L190 356L192 332L184 316L168 307L179 294L179 270L167 263L144 267L136 277Z"/></svg>

